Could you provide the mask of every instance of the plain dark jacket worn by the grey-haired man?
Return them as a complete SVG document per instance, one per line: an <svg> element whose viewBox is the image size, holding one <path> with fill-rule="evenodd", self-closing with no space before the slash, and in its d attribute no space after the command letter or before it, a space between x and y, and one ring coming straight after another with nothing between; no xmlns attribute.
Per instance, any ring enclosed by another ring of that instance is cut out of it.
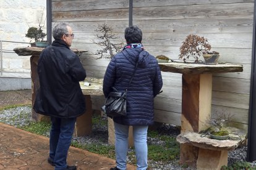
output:
<svg viewBox="0 0 256 170"><path fill-rule="evenodd" d="M47 116L74 118L85 113L85 100L79 81L86 77L79 57L66 42L56 40L38 60L40 89L34 110Z"/></svg>

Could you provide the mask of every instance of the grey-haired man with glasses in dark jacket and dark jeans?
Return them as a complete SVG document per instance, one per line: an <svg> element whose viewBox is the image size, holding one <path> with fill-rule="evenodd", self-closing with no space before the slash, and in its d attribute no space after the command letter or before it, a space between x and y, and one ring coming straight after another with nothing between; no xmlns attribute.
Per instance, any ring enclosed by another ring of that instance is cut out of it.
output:
<svg viewBox="0 0 256 170"><path fill-rule="evenodd" d="M48 163L55 170L77 169L67 165L77 116L85 113L85 100L79 81L86 77L79 57L69 47L74 39L72 28L58 23L53 28L54 41L40 54L38 76L40 89L36 93L34 109L51 116Z"/></svg>

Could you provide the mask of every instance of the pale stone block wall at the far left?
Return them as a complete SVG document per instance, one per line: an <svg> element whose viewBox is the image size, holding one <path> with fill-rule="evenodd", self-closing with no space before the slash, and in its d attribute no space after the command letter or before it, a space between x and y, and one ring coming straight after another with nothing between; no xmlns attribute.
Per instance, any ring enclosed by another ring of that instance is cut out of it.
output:
<svg viewBox="0 0 256 170"><path fill-rule="evenodd" d="M12 50L15 47L29 46L25 34L31 26L38 27L38 19L42 23L46 18L46 0L1 0L0 6L0 41L2 41L2 76L30 78L30 57L20 57ZM46 33L46 22L43 27ZM16 42L4 42L16 41ZM33 42L33 40L32 40Z"/></svg>

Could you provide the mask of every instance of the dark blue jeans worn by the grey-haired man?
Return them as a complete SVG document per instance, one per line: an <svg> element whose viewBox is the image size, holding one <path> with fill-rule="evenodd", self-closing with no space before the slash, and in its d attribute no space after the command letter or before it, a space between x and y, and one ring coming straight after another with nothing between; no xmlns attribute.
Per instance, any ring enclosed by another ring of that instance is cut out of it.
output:
<svg viewBox="0 0 256 170"><path fill-rule="evenodd" d="M49 158L54 161L55 170L67 168L67 152L71 144L76 119L51 117Z"/></svg>

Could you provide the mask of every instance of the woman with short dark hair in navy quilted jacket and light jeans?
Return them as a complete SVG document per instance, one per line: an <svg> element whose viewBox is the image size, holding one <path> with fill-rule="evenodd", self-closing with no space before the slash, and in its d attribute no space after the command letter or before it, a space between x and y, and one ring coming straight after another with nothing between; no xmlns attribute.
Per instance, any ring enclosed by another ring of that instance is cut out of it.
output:
<svg viewBox="0 0 256 170"><path fill-rule="evenodd" d="M109 62L103 81L103 92L108 97L112 87L124 92L127 89L127 115L114 117L116 135L116 164L111 169L126 169L129 126L133 126L137 169L147 169L147 130L154 123L154 97L163 86L158 63L143 49L142 31L137 26L125 30L127 45ZM135 65L138 63L135 70ZM129 81L135 70L130 86Z"/></svg>

